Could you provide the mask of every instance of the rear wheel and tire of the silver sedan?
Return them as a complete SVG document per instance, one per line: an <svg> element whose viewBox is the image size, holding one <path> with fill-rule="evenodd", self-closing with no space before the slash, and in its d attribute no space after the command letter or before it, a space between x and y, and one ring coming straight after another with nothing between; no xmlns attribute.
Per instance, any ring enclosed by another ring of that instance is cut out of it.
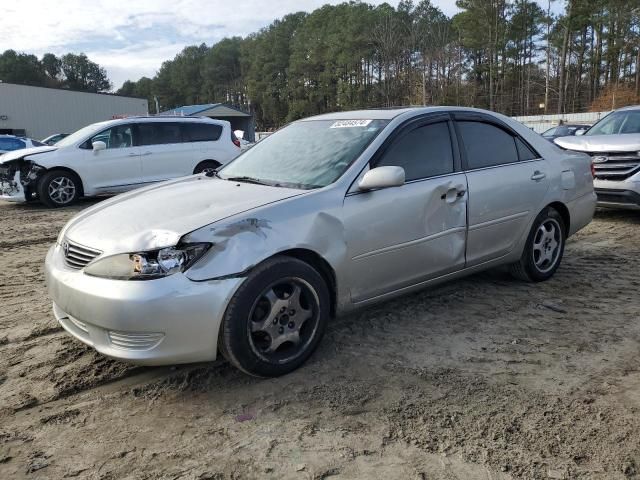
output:
<svg viewBox="0 0 640 480"><path fill-rule="evenodd" d="M527 237L522 257L510 265L511 274L526 282L543 282L556 273L562 261L567 227L552 207L536 217Z"/></svg>

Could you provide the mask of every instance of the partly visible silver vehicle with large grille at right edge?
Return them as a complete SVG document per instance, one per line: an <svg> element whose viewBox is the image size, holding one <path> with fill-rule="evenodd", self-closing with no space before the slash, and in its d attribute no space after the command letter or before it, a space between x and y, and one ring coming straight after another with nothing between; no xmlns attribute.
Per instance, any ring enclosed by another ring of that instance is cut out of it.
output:
<svg viewBox="0 0 640 480"><path fill-rule="evenodd" d="M598 205L640 210L640 106L610 113L582 136L554 141L591 156Z"/></svg>

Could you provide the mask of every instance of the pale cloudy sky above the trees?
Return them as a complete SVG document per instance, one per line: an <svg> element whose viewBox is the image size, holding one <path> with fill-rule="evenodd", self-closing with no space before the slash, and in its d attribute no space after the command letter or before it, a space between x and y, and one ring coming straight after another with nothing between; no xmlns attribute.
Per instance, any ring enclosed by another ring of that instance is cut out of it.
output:
<svg viewBox="0 0 640 480"><path fill-rule="evenodd" d="M6 2L0 52L11 48L38 57L83 52L107 70L117 89L125 80L153 77L187 45L246 36L288 13L342 1L56 0L47 2L50 8L43 8L42 0ZM396 6L398 0L387 3ZM457 12L455 0L432 3L447 15Z"/></svg>

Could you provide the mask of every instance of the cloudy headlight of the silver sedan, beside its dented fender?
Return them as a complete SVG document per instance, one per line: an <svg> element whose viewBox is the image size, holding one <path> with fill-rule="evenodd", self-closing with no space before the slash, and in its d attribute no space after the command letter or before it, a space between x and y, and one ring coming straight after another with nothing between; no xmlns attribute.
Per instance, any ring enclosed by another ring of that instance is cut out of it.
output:
<svg viewBox="0 0 640 480"><path fill-rule="evenodd" d="M184 272L209 249L210 243L191 243L149 252L112 255L89 264L84 273L116 280L151 280Z"/></svg>

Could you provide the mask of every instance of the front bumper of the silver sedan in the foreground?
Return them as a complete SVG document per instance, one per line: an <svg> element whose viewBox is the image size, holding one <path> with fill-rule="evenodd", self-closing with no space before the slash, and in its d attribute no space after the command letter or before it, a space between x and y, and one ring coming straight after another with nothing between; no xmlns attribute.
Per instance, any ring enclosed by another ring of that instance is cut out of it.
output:
<svg viewBox="0 0 640 480"><path fill-rule="evenodd" d="M143 365L214 360L220 322L243 280L96 278L67 267L58 245L47 253L45 277L67 332L104 355Z"/></svg>

